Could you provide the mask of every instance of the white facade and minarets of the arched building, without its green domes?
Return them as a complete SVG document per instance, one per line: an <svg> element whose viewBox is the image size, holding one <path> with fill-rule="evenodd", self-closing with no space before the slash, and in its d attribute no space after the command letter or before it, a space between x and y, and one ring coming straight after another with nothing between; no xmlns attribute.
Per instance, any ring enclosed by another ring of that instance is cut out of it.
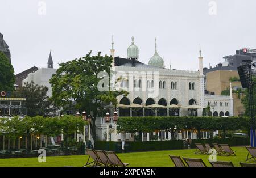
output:
<svg viewBox="0 0 256 178"><path fill-rule="evenodd" d="M114 43L112 41L112 49L110 52L114 58L115 50L113 48L113 44ZM114 64L112 66L114 66ZM115 78L122 78L119 82L119 87L122 90L129 92L129 95L127 96L118 96L117 100L119 104L124 104L122 103L123 98L126 98L126 101L129 101L126 105L133 104L135 100L139 100L142 102L141 105L143 107L147 106L148 99L152 99L151 101L154 102L153 104L159 104L160 100L164 100L166 101L166 105L171 105L171 101L176 99L177 105L181 107L179 116L189 115L188 108L186 108L189 105L198 105L199 107L207 107L207 105L210 105L211 112L213 109L214 115L233 116L232 96L205 95L203 57L201 56L201 49L199 56L199 71L171 70L143 63L136 63L135 66L131 63L126 63L120 66L114 66L113 70L117 73ZM152 81L154 86L151 84ZM195 101L195 103L189 103L191 100ZM119 108L118 111L120 109L121 108ZM143 116L145 116L145 109L146 108L143 108ZM119 113L119 116L120 114L121 113ZM197 109L197 116L202 116L202 114L203 109ZM133 116L132 109L130 109L130 116ZM155 116L158 116L157 111ZM167 116L170 116L169 109L167 109ZM113 120L110 120L110 124L114 126ZM96 126L97 139L104 140L107 126L104 118L98 118ZM184 132L181 137L192 138L192 134L194 133ZM170 134L162 132L161 138L163 135L165 135L165 139L170 139ZM209 134L207 132L203 132L203 137L207 138L209 137ZM111 140L114 141L113 133L111 138ZM144 137L142 139L146 141L148 138L148 133L144 133ZM117 139L127 141L131 140L132 137L130 133L126 133L125 135L118 134Z"/></svg>

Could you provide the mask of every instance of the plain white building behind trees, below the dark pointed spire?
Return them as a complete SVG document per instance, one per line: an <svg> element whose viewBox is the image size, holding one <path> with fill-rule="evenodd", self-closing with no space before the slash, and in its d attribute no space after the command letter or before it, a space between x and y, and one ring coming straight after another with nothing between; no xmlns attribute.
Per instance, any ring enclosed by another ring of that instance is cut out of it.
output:
<svg viewBox="0 0 256 178"><path fill-rule="evenodd" d="M35 84L43 85L49 88L47 95L52 96L52 87L49 83L49 79L52 78L52 75L55 74L57 69L52 68L40 68L35 73L28 74L27 78L23 80L23 83L32 81Z"/></svg>

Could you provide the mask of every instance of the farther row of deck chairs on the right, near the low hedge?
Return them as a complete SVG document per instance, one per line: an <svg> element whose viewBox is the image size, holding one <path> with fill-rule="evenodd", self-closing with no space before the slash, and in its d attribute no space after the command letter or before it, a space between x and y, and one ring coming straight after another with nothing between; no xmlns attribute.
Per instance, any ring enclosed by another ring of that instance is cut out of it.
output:
<svg viewBox="0 0 256 178"><path fill-rule="evenodd" d="M196 152L195 154L201 153L201 154L211 154L209 153L209 150L212 149L209 143L204 143L205 146L203 146L202 143L195 143L196 145ZM235 152L231 149L231 147L228 144L217 144L212 143L214 146L213 148L217 151L217 155L234 155L236 156Z"/></svg>

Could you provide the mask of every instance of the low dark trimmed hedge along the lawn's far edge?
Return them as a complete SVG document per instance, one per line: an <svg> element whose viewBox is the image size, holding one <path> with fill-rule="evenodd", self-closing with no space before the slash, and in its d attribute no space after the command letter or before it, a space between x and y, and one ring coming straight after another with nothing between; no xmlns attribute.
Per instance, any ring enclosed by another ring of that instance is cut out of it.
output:
<svg viewBox="0 0 256 178"><path fill-rule="evenodd" d="M195 148L195 143L226 143L229 146L242 146L250 145L250 138L196 139L192 140L191 148ZM122 142L96 141L94 149L114 152L137 152L187 149L187 144L185 145L183 140L125 142L125 150L122 150Z"/></svg>

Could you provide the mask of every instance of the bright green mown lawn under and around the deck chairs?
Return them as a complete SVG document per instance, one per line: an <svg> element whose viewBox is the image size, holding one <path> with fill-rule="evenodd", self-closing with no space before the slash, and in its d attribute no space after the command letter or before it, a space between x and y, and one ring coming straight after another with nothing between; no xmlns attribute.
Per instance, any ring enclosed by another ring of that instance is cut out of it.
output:
<svg viewBox="0 0 256 178"><path fill-rule="evenodd" d="M236 151L237 156L217 156L217 160L232 161L235 166L240 166L239 162L245 162L247 150L245 147L232 147ZM118 154L119 158L125 163L130 163L130 166L159 166L170 167L174 166L168 155L177 155L188 158L202 158L203 161L210 166L208 162L209 155L194 154L195 149L191 150L170 150L170 151L150 151L150 152L133 152L126 154ZM56 156L47 157L46 163L39 163L37 158L15 158L15 159L0 159L0 167L3 166L78 166L81 167L86 163L88 155L79 156ZM254 162L254 161L251 161Z"/></svg>

